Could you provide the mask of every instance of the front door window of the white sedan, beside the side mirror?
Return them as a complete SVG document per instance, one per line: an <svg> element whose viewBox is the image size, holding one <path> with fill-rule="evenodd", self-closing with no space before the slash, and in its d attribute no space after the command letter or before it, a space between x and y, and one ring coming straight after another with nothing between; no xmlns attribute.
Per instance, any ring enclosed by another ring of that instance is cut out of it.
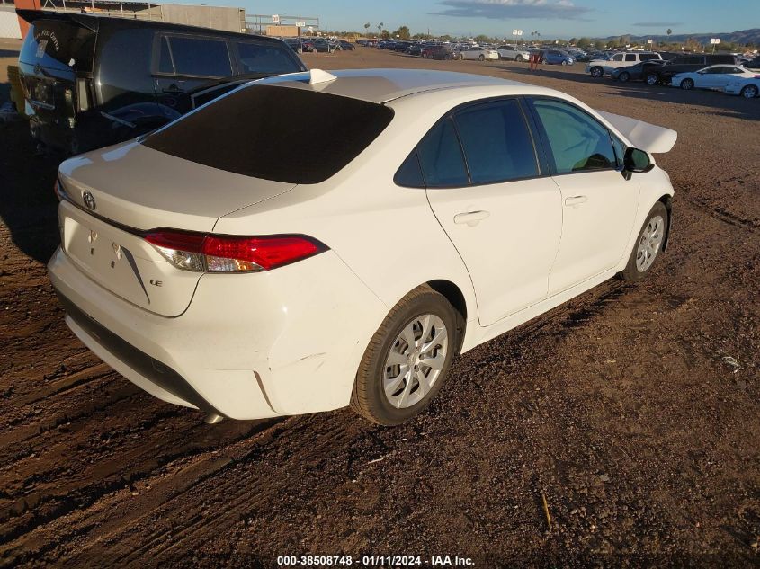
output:
<svg viewBox="0 0 760 569"><path fill-rule="evenodd" d="M598 120L567 102L538 99L532 106L549 143L557 173L616 166L610 133Z"/></svg>

